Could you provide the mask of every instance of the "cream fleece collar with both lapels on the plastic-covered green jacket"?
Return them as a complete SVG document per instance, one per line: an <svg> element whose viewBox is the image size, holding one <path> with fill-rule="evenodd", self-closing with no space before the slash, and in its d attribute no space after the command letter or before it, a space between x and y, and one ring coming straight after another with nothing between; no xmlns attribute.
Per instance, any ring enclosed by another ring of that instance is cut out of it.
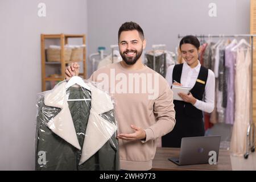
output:
<svg viewBox="0 0 256 182"><path fill-rule="evenodd" d="M47 123L47 126L53 131L53 133L72 144L72 146L81 150L68 107L65 89L66 84L66 82L61 83L54 89L49 90L44 96L45 105L59 107L61 109L60 113ZM117 130L116 125L106 121L106 119L100 116L100 114L114 109L111 97L102 90L97 89L92 84L89 83L88 85L90 86L92 101L79 165L84 163L98 150L100 150L100 148Z"/></svg>

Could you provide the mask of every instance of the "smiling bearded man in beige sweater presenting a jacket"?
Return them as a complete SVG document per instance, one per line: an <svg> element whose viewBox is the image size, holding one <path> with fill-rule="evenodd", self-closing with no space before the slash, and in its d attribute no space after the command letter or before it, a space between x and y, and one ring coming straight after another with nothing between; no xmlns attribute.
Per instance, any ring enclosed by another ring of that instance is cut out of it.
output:
<svg viewBox="0 0 256 182"><path fill-rule="evenodd" d="M121 169L149 170L156 139L175 126L173 93L162 76L142 64L146 40L137 23L122 24L118 45L123 60L98 69L90 80L102 82L115 102ZM79 64L69 66L67 80L78 72Z"/></svg>

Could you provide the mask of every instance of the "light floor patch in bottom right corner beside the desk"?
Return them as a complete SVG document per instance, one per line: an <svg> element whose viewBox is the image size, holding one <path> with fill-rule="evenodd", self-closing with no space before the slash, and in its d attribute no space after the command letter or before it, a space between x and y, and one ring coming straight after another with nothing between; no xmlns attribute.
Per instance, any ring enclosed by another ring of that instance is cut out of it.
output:
<svg viewBox="0 0 256 182"><path fill-rule="evenodd" d="M243 156L230 156L233 171L256 171L256 152L249 154L247 159Z"/></svg>

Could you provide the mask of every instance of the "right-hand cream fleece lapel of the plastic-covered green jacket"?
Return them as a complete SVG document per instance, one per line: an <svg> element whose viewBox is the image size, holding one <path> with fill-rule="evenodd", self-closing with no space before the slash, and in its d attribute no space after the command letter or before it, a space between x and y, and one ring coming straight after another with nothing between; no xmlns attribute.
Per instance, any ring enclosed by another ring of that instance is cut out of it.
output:
<svg viewBox="0 0 256 182"><path fill-rule="evenodd" d="M111 97L92 84L89 85L92 91L92 108L90 110L79 165L100 150L117 130L116 125L100 116L100 114L114 109Z"/></svg>

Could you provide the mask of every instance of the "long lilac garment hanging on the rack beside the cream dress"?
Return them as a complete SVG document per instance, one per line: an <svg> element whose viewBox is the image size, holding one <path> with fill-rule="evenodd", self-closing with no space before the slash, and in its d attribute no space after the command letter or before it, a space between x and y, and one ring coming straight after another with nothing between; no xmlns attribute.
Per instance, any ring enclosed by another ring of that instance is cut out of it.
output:
<svg viewBox="0 0 256 182"><path fill-rule="evenodd" d="M236 57L231 49L236 46L236 43L231 43L225 49L225 67L226 67L226 86L227 86L227 103L226 103L226 119L227 124L234 123L234 105L235 105L235 90L234 90L234 75Z"/></svg>

